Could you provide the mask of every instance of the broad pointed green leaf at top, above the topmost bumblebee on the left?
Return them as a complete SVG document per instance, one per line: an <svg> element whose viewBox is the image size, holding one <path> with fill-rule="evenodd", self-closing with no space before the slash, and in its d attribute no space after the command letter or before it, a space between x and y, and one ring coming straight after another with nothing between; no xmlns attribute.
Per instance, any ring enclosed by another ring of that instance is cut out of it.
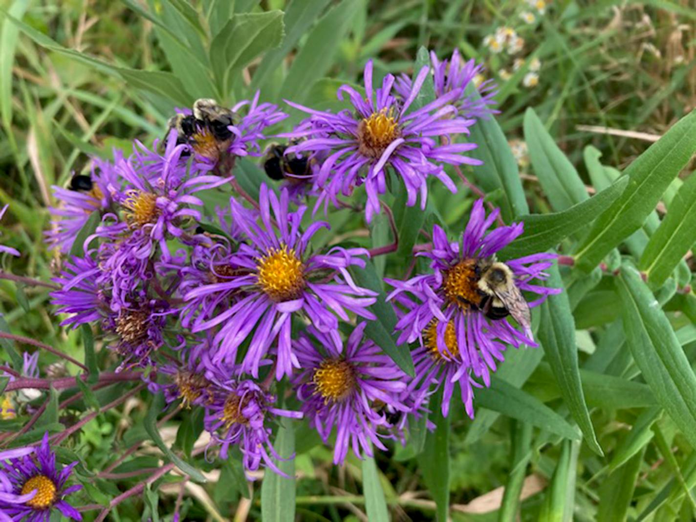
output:
<svg viewBox="0 0 696 522"><path fill-rule="evenodd" d="M210 63L218 90L228 95L241 71L283 39L283 11L235 14L210 44Z"/></svg>

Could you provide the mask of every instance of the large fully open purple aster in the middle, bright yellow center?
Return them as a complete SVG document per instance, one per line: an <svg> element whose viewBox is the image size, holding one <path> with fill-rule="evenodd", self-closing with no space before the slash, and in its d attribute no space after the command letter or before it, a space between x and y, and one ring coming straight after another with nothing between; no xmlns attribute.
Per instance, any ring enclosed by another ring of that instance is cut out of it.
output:
<svg viewBox="0 0 696 522"><path fill-rule="evenodd" d="M209 305L193 322L193 331L221 326L214 337L214 363L234 364L237 349L256 328L242 361L242 371L254 377L258 377L259 363L276 339L276 377L281 379L291 374L293 367L300 367L290 343L294 313L302 312L319 331L329 333L336 347L340 347L336 315L347 321L349 310L374 319L367 310L375 301L374 292L356 286L347 270L351 265L365 267L358 256L367 255L367 251L334 246L326 253L309 255L311 237L328 224L314 222L301 232L306 207L288 212L288 200L287 191L281 191L278 198L265 184L260 189L260 213L230 200L232 219L244 232L246 242L216 266L224 260L237 274L194 288L184 296L187 301L198 300L200 306L205 304L204 298L209 299ZM222 273L219 268L216 271ZM213 296L235 292L237 301L223 313L214 313L211 307L218 300Z"/></svg>

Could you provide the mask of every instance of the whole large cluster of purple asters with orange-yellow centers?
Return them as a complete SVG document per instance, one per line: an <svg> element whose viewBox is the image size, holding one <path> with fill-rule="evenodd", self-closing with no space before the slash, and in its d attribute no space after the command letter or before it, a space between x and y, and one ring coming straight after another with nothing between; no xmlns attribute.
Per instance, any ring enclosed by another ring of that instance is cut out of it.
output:
<svg viewBox="0 0 696 522"><path fill-rule="evenodd" d="M61 203L48 239L64 254L52 292L62 324L98 325L116 371L142 371L148 389L184 415L198 409L207 459L238 450L250 478L261 467L282 473L278 461L292 457L272 443L280 418L308 422L342 464L349 451L362 457L403 442L439 388L443 416L458 385L473 417L473 388L489 385L507 346L535 345L529 307L555 292L535 283L553 255L496 268L496 254L523 226L490 230L498 211L487 215L482 201L459 241L435 225L418 254L428 269L384 279L397 343L411 346L409 377L369 335L379 289L354 275L371 252L327 243L331 217L315 214L364 210L369 222L388 192L403 190L406 205L425 209L433 179L457 191L448 172L481 164L467 155L477 146L467 141L470 127L496 112L495 86L482 72L459 52L445 60L432 53L412 79L386 74L376 87L370 61L364 92L338 90L351 111L287 101L308 117L276 134L285 145L267 142L285 113L258 94L230 109L214 100L181 109L162 143L136 142L129 157L95 161L70 188L55 187ZM434 96L422 103L426 82ZM235 177L241 157L264 157L280 184L266 180L258 194L246 193ZM348 203L362 187L362 206ZM82 254L65 255L94 215ZM509 277L507 293L480 283L495 269ZM527 303L521 292L536 297ZM59 498L63 475L46 476Z"/></svg>

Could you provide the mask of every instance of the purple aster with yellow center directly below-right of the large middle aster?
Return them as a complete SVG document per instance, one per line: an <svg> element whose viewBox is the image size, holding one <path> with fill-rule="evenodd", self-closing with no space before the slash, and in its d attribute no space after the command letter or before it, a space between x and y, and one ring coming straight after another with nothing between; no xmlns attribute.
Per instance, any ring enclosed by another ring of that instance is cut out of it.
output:
<svg viewBox="0 0 696 522"><path fill-rule="evenodd" d="M386 450L380 440L393 425L385 409L409 411L398 397L406 389L405 375L374 342L363 340L365 323L355 327L345 349L335 349L333 339L309 326L307 335L293 342L302 372L292 382L302 411L324 443L336 429L333 463L342 464L349 448L356 457L372 457L370 441ZM376 408L375 403L381 404ZM362 451L361 451L362 448Z"/></svg>

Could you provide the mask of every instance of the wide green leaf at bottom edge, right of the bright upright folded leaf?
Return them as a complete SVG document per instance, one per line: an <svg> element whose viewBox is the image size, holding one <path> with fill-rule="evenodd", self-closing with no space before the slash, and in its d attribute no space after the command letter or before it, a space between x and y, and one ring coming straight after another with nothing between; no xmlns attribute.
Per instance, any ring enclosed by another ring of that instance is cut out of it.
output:
<svg viewBox="0 0 696 522"><path fill-rule="evenodd" d="M599 509L597 522L626 520L626 512L631 505L633 490L638 480L638 472L643 461L645 446L606 477L599 487Z"/></svg>

